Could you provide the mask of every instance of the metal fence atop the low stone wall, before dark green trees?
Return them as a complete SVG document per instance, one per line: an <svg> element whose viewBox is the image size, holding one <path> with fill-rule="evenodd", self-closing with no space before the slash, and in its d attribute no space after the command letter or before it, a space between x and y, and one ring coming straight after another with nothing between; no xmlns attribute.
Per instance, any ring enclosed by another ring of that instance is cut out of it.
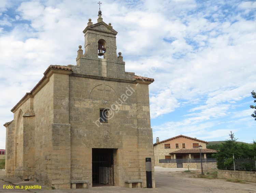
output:
<svg viewBox="0 0 256 193"><path fill-rule="evenodd" d="M256 160L252 158L226 158L221 163L223 163L221 169L256 171Z"/></svg>

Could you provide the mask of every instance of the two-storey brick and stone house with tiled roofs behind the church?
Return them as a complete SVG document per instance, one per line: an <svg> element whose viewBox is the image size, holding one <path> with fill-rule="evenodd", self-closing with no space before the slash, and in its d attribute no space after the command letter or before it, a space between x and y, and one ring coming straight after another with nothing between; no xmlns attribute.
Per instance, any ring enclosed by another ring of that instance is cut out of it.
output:
<svg viewBox="0 0 256 193"><path fill-rule="evenodd" d="M202 146L202 158L206 159L208 154L217 153L213 149L207 149L207 144L208 142L185 135L178 135L161 142L157 137L154 144L155 165L159 165L159 159L199 159L199 145Z"/></svg>

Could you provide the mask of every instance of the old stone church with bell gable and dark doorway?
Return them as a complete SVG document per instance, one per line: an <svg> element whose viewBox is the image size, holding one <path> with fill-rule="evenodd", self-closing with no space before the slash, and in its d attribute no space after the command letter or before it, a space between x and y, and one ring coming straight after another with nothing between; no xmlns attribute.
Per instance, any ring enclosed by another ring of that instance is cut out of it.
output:
<svg viewBox="0 0 256 193"><path fill-rule="evenodd" d="M56 189L98 185L146 187L154 152L148 85L153 78L125 72L116 34L89 19L76 65L50 65L11 109L5 175Z"/></svg>

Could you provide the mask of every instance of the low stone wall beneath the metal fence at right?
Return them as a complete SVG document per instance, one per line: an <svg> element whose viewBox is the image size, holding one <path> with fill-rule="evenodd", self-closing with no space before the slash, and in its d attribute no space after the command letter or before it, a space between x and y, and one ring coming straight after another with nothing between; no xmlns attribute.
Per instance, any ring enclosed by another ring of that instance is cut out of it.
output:
<svg viewBox="0 0 256 193"><path fill-rule="evenodd" d="M256 172L233 171L218 169L218 178L223 179L240 179L244 181L256 182Z"/></svg>

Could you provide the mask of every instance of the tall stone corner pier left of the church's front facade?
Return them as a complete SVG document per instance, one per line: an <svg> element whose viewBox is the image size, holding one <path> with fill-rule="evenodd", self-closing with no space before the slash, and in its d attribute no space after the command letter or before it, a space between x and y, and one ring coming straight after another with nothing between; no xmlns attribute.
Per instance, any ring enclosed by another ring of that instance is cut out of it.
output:
<svg viewBox="0 0 256 193"><path fill-rule="evenodd" d="M52 71L53 83L53 123L52 154L48 170L49 186L56 189L70 188L70 124L69 124L69 74L70 71ZM50 72L51 73L51 72Z"/></svg>

